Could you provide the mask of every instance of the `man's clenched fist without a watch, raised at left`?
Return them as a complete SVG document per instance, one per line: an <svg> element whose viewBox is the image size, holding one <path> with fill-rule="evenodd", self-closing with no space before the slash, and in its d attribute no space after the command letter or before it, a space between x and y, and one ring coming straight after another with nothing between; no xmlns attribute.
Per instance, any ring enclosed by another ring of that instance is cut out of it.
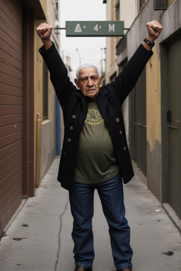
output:
<svg viewBox="0 0 181 271"><path fill-rule="evenodd" d="M41 23L37 27L37 35L41 38L46 50L52 46L52 40L50 39L51 33L52 26L48 25L47 23Z"/></svg>

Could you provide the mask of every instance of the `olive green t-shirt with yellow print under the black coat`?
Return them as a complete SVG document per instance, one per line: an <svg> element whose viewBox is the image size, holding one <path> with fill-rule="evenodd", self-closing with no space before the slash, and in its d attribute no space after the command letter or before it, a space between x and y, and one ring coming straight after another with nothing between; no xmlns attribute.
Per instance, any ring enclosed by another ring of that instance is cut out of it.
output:
<svg viewBox="0 0 181 271"><path fill-rule="evenodd" d="M88 113L80 135L75 181L101 183L119 174L110 133L96 98L89 100Z"/></svg>

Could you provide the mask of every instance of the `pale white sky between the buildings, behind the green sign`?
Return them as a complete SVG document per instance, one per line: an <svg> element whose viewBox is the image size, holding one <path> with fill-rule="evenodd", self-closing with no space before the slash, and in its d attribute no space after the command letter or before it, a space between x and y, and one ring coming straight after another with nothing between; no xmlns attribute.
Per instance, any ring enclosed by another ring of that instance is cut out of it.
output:
<svg viewBox="0 0 181 271"><path fill-rule="evenodd" d="M103 0L60 0L61 28L66 20L106 20L106 5ZM105 37L66 37L66 31L61 30L61 54L65 62L66 56L70 57L72 76L80 63L100 67L101 59L105 59L104 47Z"/></svg>

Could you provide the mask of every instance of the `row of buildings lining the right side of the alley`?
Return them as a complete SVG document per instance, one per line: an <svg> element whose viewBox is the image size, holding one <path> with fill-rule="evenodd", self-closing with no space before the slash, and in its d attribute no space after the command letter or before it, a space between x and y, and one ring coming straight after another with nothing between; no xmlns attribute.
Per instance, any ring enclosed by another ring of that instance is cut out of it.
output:
<svg viewBox="0 0 181 271"><path fill-rule="evenodd" d="M104 0L103 3L107 4L107 20L124 20L127 28L122 38L107 37L107 83L122 71L146 37L146 23L158 20L163 25L154 54L135 91L124 102L123 112L137 171L173 220L180 221L181 1Z"/></svg>

